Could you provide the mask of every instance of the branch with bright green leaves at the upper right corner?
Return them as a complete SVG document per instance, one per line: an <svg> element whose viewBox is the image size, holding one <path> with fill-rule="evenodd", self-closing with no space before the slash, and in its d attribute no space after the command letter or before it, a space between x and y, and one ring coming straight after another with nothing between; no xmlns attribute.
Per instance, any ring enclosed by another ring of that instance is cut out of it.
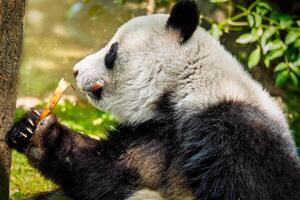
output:
<svg viewBox="0 0 300 200"><path fill-rule="evenodd" d="M299 90L300 82L300 20L274 9L266 1L256 0L248 7L233 5L231 0L210 0L212 3L227 4L227 18L216 22L201 16L211 24L210 33L219 39L224 33L238 31L239 44L252 44L253 51L248 57L248 67L259 64L273 67L276 86L287 83ZM232 15L234 8L239 12Z"/></svg>

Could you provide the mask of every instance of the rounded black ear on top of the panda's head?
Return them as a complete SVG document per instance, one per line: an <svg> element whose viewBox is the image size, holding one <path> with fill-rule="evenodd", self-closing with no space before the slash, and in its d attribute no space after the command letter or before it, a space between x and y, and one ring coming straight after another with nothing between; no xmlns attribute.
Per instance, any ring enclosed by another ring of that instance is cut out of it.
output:
<svg viewBox="0 0 300 200"><path fill-rule="evenodd" d="M199 23L198 6L193 0L181 0L173 7L167 21L167 28L179 31L182 42L187 41Z"/></svg>

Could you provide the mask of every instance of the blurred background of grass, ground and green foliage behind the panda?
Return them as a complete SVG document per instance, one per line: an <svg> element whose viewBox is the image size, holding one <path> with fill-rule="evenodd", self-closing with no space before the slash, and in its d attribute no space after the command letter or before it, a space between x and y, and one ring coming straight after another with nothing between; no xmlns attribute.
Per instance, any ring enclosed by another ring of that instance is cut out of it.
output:
<svg viewBox="0 0 300 200"><path fill-rule="evenodd" d="M175 0L28 0L16 119L42 106L74 64L100 49L117 28L138 15L168 12ZM201 25L231 51L286 112L300 146L300 3L198 0ZM275 29L275 31L274 31ZM273 31L273 32L272 32ZM116 119L69 90L55 109L60 121L92 137L105 137ZM56 186L13 152L10 195L28 199Z"/></svg>

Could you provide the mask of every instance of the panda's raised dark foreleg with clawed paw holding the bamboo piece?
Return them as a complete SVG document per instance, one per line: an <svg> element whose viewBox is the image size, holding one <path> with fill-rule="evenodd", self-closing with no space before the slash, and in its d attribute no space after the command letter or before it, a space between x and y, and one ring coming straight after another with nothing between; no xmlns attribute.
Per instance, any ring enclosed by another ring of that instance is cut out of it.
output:
<svg viewBox="0 0 300 200"><path fill-rule="evenodd" d="M72 199L123 200L135 191L136 173L118 165L122 144L108 146L79 134L53 115L35 128L34 118L29 113L17 122L7 135L8 143ZM35 129L32 137L28 129Z"/></svg>

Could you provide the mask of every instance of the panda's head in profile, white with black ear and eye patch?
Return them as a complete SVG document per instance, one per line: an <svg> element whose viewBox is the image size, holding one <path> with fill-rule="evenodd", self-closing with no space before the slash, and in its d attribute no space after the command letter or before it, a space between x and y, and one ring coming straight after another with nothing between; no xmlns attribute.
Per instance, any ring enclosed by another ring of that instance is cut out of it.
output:
<svg viewBox="0 0 300 200"><path fill-rule="evenodd" d="M78 87L121 122L150 119L158 99L175 87L177 66L185 65L198 20L194 1L177 3L171 15L130 20L103 49L75 65Z"/></svg>

